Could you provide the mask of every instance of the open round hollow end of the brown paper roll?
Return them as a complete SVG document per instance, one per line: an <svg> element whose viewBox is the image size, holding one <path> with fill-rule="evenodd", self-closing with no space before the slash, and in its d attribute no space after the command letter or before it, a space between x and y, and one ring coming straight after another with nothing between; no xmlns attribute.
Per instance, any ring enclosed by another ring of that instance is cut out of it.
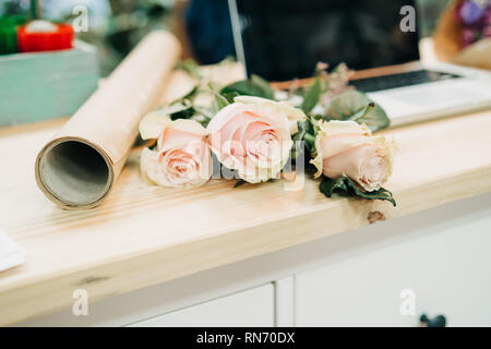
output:
<svg viewBox="0 0 491 349"><path fill-rule="evenodd" d="M108 156L83 140L58 139L36 159L36 181L64 208L91 208L106 196L115 178Z"/></svg>

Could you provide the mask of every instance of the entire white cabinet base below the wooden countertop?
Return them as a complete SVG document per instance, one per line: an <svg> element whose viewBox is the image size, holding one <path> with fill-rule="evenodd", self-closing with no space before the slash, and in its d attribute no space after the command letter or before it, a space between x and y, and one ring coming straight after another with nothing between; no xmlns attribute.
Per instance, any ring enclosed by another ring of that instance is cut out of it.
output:
<svg viewBox="0 0 491 349"><path fill-rule="evenodd" d="M19 325L417 326L421 313L491 326L491 194Z"/></svg>

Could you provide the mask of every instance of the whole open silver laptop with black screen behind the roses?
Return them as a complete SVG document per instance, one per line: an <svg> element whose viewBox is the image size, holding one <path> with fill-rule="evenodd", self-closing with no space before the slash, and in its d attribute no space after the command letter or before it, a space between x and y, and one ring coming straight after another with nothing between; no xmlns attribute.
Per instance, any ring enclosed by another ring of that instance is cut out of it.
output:
<svg viewBox="0 0 491 349"><path fill-rule="evenodd" d="M489 71L420 60L416 1L228 0L228 4L237 57L248 75L288 81L311 76L319 61L330 67L346 62L361 71L359 75L369 75L350 84L380 104L393 127L491 107ZM412 19L407 17L410 9ZM411 20L412 27L407 22ZM374 68L383 69L370 76Z"/></svg>

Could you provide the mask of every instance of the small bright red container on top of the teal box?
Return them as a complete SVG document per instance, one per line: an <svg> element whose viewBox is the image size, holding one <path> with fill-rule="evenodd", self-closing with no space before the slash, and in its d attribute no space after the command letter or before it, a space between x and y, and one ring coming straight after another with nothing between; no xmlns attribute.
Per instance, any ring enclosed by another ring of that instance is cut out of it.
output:
<svg viewBox="0 0 491 349"><path fill-rule="evenodd" d="M52 33L27 33L25 25L17 27L20 52L53 51L72 48L73 27L69 24L56 24Z"/></svg>

